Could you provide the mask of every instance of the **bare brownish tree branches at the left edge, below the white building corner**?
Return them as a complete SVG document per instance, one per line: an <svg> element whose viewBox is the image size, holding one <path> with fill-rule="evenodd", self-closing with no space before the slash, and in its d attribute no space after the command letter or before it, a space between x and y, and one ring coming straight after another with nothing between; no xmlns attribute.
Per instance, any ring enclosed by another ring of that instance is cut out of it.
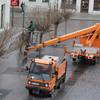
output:
<svg viewBox="0 0 100 100"><path fill-rule="evenodd" d="M27 42L27 34L13 34L11 30L0 33L0 57L22 48Z"/></svg>

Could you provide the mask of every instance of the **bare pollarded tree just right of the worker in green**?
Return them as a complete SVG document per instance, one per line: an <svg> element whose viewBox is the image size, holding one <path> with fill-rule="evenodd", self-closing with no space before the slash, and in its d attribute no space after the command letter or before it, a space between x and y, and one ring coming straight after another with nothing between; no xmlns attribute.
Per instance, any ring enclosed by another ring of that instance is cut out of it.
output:
<svg viewBox="0 0 100 100"><path fill-rule="evenodd" d="M38 9L37 12L33 13L33 20L36 25L36 30L40 32L40 38L39 43L42 43L42 38L45 33L47 33L50 30L51 27L51 18L50 18L50 11L49 9L46 11L41 11L41 9Z"/></svg>

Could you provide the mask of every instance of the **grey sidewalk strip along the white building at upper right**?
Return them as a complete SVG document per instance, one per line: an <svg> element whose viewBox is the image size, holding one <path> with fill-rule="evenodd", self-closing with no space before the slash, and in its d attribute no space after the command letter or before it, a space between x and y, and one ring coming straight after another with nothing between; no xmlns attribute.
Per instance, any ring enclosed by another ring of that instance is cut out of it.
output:
<svg viewBox="0 0 100 100"><path fill-rule="evenodd" d="M90 20L90 21L99 21L100 15L92 15L88 13L74 13L71 18L72 20Z"/></svg>

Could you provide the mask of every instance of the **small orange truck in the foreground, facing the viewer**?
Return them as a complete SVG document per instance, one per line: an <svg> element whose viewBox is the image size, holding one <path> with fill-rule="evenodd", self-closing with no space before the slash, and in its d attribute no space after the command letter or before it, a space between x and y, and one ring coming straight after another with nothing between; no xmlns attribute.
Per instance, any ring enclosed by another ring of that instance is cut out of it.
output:
<svg viewBox="0 0 100 100"><path fill-rule="evenodd" d="M26 79L29 94L50 94L65 82L66 60L57 56L35 58L30 63Z"/></svg>

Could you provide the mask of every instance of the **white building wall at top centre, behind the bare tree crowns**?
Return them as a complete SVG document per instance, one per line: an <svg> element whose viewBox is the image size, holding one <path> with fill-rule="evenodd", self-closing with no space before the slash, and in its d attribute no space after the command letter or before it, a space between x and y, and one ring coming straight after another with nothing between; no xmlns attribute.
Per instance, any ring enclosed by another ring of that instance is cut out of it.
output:
<svg viewBox="0 0 100 100"><path fill-rule="evenodd" d="M30 11L33 8L43 8L47 9L49 7L53 8L54 6L58 6L58 9L61 8L62 0L20 0L20 4L25 3L26 11Z"/></svg>

